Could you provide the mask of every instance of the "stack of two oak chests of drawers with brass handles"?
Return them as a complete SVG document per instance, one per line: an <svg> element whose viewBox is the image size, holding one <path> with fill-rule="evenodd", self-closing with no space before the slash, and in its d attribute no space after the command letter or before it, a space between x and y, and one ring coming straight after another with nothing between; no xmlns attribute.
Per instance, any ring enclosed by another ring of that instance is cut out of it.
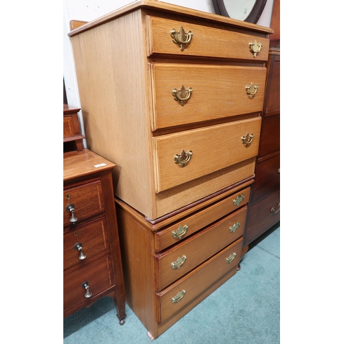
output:
<svg viewBox="0 0 344 344"><path fill-rule="evenodd" d="M87 143L117 164L126 300L151 338L239 266L271 32L136 1L69 33Z"/></svg>

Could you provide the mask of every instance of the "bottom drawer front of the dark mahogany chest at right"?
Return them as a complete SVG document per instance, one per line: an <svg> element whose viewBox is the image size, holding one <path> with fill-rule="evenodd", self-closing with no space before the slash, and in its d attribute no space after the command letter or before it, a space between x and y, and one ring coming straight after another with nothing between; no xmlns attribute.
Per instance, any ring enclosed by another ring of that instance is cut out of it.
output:
<svg viewBox="0 0 344 344"><path fill-rule="evenodd" d="M257 239L271 226L279 222L279 191L264 198L250 208L246 229L245 246ZM272 208L274 211L271 211ZM278 212L277 212L278 211Z"/></svg>

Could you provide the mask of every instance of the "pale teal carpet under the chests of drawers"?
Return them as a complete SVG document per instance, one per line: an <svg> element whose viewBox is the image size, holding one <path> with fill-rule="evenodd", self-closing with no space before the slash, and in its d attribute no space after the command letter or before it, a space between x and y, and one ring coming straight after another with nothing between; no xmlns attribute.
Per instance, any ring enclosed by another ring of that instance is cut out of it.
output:
<svg viewBox="0 0 344 344"><path fill-rule="evenodd" d="M250 245L239 270L155 344L278 344L279 223ZM63 321L64 344L149 344L147 330L126 306L119 325L114 301L98 300Z"/></svg>

